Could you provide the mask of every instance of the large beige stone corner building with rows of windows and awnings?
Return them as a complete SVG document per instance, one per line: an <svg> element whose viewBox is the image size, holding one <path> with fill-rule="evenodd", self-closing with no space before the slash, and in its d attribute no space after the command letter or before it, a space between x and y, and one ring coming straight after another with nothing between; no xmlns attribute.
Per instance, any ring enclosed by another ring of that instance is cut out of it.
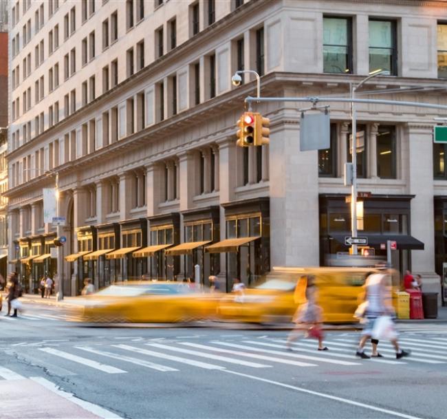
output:
<svg viewBox="0 0 447 419"><path fill-rule="evenodd" d="M200 272L230 286L347 251L349 104L330 103L331 147L306 152L307 105L256 105L270 118L270 145L242 149L235 123L256 85L246 74L232 86L237 69L257 71L261 95L277 97L347 97L351 83L386 69L358 94L447 105L443 1L11 6L9 252L30 289L47 273L63 275L72 294L86 276L101 287ZM357 114L359 189L371 192L364 234L378 255L397 237L395 267L439 289L435 202L447 196L447 172L431 136L443 113L362 104ZM67 219L57 228L43 223L42 203L56 175Z"/></svg>

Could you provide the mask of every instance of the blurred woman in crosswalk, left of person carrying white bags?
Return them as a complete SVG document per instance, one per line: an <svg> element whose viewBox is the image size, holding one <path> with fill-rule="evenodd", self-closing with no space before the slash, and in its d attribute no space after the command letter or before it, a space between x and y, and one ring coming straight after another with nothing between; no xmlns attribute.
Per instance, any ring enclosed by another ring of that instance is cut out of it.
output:
<svg viewBox="0 0 447 419"><path fill-rule="evenodd" d="M299 306L298 310L296 310L294 315L296 325L287 337L285 349L292 352L292 342L296 341L304 333L306 337L311 336L318 340L318 351L327 351L329 349L323 345L323 330L321 328L321 323L323 323L323 309L316 301L318 290L314 283L314 277L311 275L307 277L305 296L307 302Z"/></svg>

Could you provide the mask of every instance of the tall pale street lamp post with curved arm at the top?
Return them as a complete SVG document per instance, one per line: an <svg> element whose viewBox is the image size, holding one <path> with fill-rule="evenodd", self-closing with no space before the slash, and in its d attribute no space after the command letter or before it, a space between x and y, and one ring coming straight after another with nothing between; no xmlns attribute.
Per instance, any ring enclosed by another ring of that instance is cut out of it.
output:
<svg viewBox="0 0 447 419"><path fill-rule="evenodd" d="M389 75L388 71L382 69L371 72L367 78L364 78L358 85L351 83L351 117L352 117L352 186L351 186L351 235L357 237L357 120L356 120L356 103L354 102L356 90L369 79L380 76ZM352 254L357 255L357 245L352 244Z"/></svg>

